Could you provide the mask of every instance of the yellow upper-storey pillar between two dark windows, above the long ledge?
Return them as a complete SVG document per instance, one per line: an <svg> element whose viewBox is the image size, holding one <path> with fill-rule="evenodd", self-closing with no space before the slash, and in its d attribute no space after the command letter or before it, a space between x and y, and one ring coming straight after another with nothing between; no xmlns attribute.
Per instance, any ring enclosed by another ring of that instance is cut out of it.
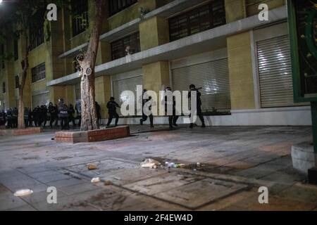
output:
<svg viewBox="0 0 317 225"><path fill-rule="evenodd" d="M168 43L168 20L154 17L139 24L141 51Z"/></svg>

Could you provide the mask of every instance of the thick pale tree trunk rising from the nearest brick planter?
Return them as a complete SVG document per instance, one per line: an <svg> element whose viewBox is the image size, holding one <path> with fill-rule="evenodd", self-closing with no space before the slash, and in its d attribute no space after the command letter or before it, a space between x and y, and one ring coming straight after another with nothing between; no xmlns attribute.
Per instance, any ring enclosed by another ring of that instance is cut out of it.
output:
<svg viewBox="0 0 317 225"><path fill-rule="evenodd" d="M80 64L80 76L82 77L80 86L82 94L82 124L84 131L99 129L97 120L97 110L94 93L94 67L96 65L97 51L99 46L99 36L101 25L104 20L106 0L94 0L94 18L92 18L92 31L90 34L87 52L81 59L77 59Z"/></svg>

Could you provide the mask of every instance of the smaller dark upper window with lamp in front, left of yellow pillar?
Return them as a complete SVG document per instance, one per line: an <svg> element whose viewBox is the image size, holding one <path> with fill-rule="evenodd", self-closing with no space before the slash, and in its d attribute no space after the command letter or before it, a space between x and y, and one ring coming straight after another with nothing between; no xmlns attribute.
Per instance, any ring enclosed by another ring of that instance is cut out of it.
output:
<svg viewBox="0 0 317 225"><path fill-rule="evenodd" d="M130 34L122 39L117 41L113 41L111 43L111 56L112 60L117 58L122 58L127 55L125 49L127 46L130 46L130 53L137 53L140 51L140 44L139 44L139 32L134 34Z"/></svg>

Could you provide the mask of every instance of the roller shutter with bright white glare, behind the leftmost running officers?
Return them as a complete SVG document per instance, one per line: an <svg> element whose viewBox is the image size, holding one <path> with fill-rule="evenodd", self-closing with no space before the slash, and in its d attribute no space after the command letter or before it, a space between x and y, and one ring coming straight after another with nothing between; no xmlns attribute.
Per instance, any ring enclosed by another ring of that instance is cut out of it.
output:
<svg viewBox="0 0 317 225"><path fill-rule="evenodd" d="M142 85L142 76L132 77L128 79L120 79L113 82L113 97L116 102L121 105L125 103L136 104L137 99L133 100L129 96L123 95L123 91L133 91L135 98L137 98L137 85ZM136 108L136 107L135 107ZM119 110L120 111L120 110Z"/></svg>

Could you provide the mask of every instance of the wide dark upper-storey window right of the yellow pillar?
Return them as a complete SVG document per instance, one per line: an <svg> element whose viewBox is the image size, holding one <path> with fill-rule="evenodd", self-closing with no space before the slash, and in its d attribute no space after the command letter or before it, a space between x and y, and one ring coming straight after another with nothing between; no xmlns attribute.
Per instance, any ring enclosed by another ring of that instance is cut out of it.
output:
<svg viewBox="0 0 317 225"><path fill-rule="evenodd" d="M197 34L213 27L225 24L225 4L223 0L214 0L209 4L182 13L168 21L170 41Z"/></svg>

